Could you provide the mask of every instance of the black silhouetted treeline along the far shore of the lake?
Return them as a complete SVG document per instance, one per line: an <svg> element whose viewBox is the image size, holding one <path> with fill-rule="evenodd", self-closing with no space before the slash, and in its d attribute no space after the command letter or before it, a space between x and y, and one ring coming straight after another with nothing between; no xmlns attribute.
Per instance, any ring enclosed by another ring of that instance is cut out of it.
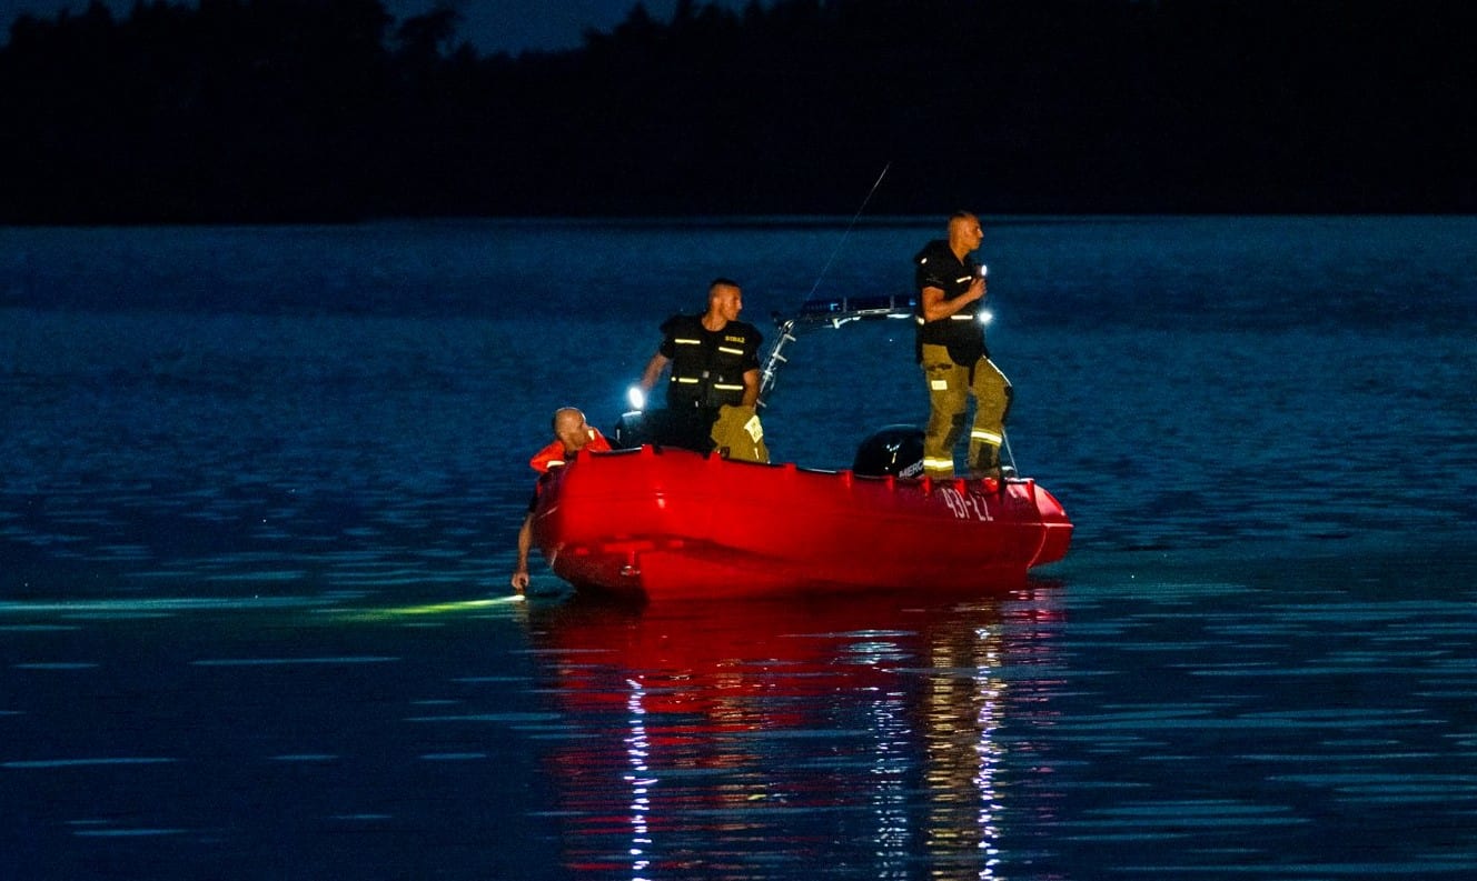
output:
<svg viewBox="0 0 1477 881"><path fill-rule="evenodd" d="M0 221L1477 211L1470 0L635 6L479 55L439 7L140 1L0 50Z"/></svg>

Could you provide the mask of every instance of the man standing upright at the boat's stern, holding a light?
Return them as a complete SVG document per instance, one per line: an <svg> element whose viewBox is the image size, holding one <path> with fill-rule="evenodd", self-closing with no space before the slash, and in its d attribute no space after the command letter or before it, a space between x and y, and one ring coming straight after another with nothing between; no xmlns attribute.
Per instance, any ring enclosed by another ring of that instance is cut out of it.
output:
<svg viewBox="0 0 1477 881"><path fill-rule="evenodd" d="M1000 477L1010 381L990 360L981 320L985 276L972 254L985 230L969 211L948 218L948 238L935 239L913 258L917 304L917 359L928 381L929 421L923 472L954 477L954 444L964 432L969 395L975 425L969 432L969 477Z"/></svg>

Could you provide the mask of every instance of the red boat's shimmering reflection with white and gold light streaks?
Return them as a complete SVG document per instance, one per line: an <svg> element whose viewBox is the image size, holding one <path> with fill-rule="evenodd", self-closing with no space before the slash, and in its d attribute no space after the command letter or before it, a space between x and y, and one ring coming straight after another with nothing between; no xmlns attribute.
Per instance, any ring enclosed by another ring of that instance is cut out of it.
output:
<svg viewBox="0 0 1477 881"><path fill-rule="evenodd" d="M922 860L932 878L993 877L995 732L1007 691L1035 691L1003 671L1044 663L1053 598L533 609L569 723L549 753L564 865L796 878L821 859L873 877Z"/></svg>

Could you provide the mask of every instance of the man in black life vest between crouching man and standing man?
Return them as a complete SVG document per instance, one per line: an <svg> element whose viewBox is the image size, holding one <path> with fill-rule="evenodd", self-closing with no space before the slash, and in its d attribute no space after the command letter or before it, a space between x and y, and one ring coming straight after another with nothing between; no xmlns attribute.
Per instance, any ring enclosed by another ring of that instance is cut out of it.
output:
<svg viewBox="0 0 1477 881"><path fill-rule="evenodd" d="M759 400L759 344L764 336L738 320L743 291L730 279L713 279L707 311L672 316L662 323L662 344L641 373L650 397L672 366L666 384L666 413L659 418L662 440L725 459L768 462Z"/></svg>

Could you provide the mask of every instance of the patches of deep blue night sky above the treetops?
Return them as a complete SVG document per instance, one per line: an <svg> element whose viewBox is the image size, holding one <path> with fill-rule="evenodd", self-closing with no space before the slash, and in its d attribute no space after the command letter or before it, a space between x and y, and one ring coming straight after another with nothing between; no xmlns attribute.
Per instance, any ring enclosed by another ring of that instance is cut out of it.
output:
<svg viewBox="0 0 1477 881"><path fill-rule="evenodd" d="M10 38L10 22L24 13L52 19L61 10L81 15L90 0L0 0L3 35ZM103 0L114 15L124 18L134 0ZM461 35L482 53L517 55L530 49L575 49L586 28L609 31L626 18L637 0L453 0L462 13ZM384 0L397 19L428 10L434 0ZM738 7L740 0L719 3ZM676 0L645 0L647 12L659 21L672 16Z"/></svg>

